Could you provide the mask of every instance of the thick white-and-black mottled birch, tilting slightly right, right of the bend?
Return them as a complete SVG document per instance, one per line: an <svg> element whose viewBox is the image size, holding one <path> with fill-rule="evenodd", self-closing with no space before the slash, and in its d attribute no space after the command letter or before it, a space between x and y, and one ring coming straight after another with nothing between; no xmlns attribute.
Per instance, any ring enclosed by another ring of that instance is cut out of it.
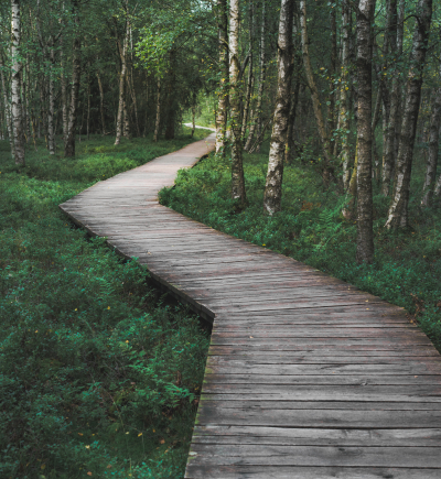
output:
<svg viewBox="0 0 441 479"><path fill-rule="evenodd" d="M292 78L292 26L294 2L281 0L278 39L278 81L263 210L273 215L281 209L284 149L287 143Z"/></svg>

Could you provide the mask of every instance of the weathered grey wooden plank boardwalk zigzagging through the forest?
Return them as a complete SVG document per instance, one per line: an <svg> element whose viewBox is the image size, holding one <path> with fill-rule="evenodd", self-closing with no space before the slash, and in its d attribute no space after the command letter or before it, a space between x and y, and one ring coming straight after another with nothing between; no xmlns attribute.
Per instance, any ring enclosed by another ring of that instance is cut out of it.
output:
<svg viewBox="0 0 441 479"><path fill-rule="evenodd" d="M187 479L440 479L441 358L405 312L160 206L214 135L61 205L214 320Z"/></svg>

